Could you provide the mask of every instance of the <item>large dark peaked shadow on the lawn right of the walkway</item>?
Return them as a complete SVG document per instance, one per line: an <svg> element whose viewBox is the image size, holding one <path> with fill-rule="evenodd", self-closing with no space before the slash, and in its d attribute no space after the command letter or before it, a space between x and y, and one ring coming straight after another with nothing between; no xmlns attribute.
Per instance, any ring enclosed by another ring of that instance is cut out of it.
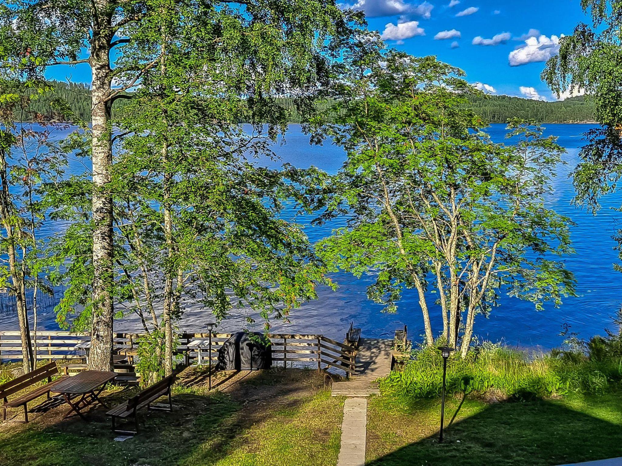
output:
<svg viewBox="0 0 622 466"><path fill-rule="evenodd" d="M616 406L616 418L621 411ZM446 428L442 444L435 434L367 465L550 466L619 456L620 424L533 400L492 404Z"/></svg>

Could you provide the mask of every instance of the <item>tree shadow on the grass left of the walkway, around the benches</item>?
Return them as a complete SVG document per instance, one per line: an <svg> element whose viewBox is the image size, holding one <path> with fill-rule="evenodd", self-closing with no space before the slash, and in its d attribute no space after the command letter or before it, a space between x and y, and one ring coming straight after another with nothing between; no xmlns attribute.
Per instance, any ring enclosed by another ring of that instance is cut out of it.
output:
<svg viewBox="0 0 622 466"><path fill-rule="evenodd" d="M172 413L142 410L141 433L124 442L113 441L110 419L101 406L87 416L60 419L65 406L34 423L0 430L0 464L13 465L209 465L225 457L238 436L276 412L295 410L303 403L292 392L291 375L259 373L243 378L228 393L174 396ZM321 383L321 381L320 381ZM273 387L273 390L264 390ZM126 399L124 390L106 396L109 406ZM254 401L254 405L249 403ZM14 424L15 425L15 424Z"/></svg>

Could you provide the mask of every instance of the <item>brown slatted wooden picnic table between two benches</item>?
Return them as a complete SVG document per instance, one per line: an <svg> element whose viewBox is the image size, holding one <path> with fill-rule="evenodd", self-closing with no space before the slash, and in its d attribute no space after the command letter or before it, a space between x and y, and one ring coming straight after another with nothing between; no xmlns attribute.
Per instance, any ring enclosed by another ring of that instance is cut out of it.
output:
<svg viewBox="0 0 622 466"><path fill-rule="evenodd" d="M100 400L98 395L104 389L104 385L115 377L117 377L117 374L114 372L85 370L77 375L58 381L50 391L63 395L67 404L71 406L65 414L65 418L68 418L75 412L86 421L86 417L81 413L81 410L87 406L100 403L104 408L108 409L108 406ZM78 398L78 401L73 401L75 398Z"/></svg>

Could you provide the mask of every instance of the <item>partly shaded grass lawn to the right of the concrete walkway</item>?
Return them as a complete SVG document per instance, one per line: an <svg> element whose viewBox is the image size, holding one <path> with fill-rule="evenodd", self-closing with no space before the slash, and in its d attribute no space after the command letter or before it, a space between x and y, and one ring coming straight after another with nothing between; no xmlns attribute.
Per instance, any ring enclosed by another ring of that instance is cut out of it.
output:
<svg viewBox="0 0 622 466"><path fill-rule="evenodd" d="M459 405L448 400L447 424ZM440 400L371 398L367 464L544 466L622 456L622 393L493 404L467 399L443 444L439 423Z"/></svg>

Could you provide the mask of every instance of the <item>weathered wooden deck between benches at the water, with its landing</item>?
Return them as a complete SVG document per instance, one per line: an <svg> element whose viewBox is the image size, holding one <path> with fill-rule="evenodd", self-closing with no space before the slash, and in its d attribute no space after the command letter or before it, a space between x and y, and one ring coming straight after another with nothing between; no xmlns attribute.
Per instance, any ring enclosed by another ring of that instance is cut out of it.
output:
<svg viewBox="0 0 622 466"><path fill-rule="evenodd" d="M356 354L355 375L345 382L333 383L333 396L360 397L378 395L376 380L391 372L393 340L362 338Z"/></svg>

